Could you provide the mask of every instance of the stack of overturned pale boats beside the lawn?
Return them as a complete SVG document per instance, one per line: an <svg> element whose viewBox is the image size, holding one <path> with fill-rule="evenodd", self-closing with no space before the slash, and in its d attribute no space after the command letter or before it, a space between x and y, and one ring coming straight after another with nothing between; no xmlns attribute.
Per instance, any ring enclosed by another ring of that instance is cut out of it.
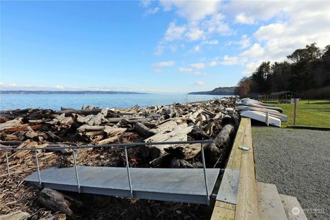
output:
<svg viewBox="0 0 330 220"><path fill-rule="evenodd" d="M258 100L250 98L242 98L236 101L236 109L240 115L245 118L251 118L267 125L281 127L281 122L287 121L287 115L283 114L283 110L274 105L264 104Z"/></svg>

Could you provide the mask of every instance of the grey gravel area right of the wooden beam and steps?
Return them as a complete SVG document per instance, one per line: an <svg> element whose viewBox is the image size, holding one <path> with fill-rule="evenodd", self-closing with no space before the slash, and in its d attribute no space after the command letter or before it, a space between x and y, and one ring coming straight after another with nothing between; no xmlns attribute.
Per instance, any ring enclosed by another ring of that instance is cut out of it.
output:
<svg viewBox="0 0 330 220"><path fill-rule="evenodd" d="M256 179L297 197L308 219L330 219L330 131L253 126Z"/></svg>

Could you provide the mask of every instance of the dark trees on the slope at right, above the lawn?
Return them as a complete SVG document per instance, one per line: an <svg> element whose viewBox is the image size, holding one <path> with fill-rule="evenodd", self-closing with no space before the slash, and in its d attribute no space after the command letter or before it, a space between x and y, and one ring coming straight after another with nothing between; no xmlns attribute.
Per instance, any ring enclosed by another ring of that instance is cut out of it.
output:
<svg viewBox="0 0 330 220"><path fill-rule="evenodd" d="M243 77L236 94L271 94L294 91L303 98L330 98L330 45L323 50L316 43L297 49L287 58L291 61L264 61L249 77Z"/></svg>

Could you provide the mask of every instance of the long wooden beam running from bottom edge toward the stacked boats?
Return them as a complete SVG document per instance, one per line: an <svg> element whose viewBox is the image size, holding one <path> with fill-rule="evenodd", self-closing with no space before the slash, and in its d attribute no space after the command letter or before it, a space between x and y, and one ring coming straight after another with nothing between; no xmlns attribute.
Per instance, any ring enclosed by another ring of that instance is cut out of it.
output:
<svg viewBox="0 0 330 220"><path fill-rule="evenodd" d="M243 146L249 146L249 151L241 150L241 169L239 192L235 219L258 219L258 204L256 201L256 176L254 171L254 155L252 146L252 131L250 118L242 118L245 123Z"/></svg>

